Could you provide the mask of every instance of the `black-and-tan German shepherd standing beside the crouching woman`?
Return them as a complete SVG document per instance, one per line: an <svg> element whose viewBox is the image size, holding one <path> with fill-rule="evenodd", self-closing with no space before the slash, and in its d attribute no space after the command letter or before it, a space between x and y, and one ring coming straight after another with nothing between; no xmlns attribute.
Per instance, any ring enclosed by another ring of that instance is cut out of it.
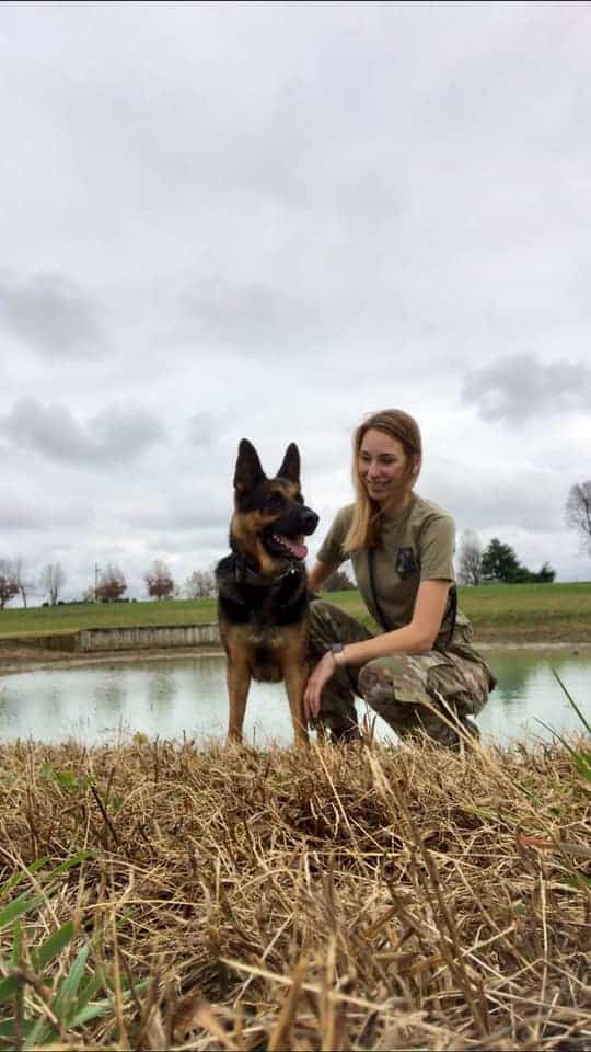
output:
<svg viewBox="0 0 591 1052"><path fill-rule="evenodd" d="M242 740L251 679L286 683L293 733L308 742L303 694L308 681L309 593L304 535L318 516L300 492L300 453L292 442L274 479L243 438L234 472L232 553L216 568L220 634L228 658L228 737Z"/></svg>

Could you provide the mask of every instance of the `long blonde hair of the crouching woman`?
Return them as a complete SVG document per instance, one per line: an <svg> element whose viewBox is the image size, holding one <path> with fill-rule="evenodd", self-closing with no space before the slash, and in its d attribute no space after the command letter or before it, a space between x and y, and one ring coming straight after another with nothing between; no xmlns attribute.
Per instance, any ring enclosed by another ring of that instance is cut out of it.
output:
<svg viewBox="0 0 591 1052"><path fill-rule="evenodd" d="M343 541L343 550L357 551L359 548L375 548L380 542L380 513L376 501L372 501L359 478L359 451L366 433L381 431L390 438L397 438L407 458L403 482L412 487L422 459L422 441L416 420L402 409L384 409L366 416L354 433L352 438L352 483L355 506L351 525Z"/></svg>

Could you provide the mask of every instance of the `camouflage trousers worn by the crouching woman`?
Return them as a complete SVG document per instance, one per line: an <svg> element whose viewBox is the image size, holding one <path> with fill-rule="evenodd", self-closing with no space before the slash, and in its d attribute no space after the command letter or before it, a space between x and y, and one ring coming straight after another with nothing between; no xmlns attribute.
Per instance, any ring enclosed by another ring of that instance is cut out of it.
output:
<svg viewBox="0 0 591 1052"><path fill-rule="evenodd" d="M315 664L334 642L371 639L359 621L323 599L310 605L310 659ZM346 665L322 691L317 725L333 740L359 736L355 696L367 704L402 739L424 733L451 748L466 734L479 736L470 719L488 699L490 678L484 665L449 651L392 654L364 665ZM443 718L442 718L443 717Z"/></svg>

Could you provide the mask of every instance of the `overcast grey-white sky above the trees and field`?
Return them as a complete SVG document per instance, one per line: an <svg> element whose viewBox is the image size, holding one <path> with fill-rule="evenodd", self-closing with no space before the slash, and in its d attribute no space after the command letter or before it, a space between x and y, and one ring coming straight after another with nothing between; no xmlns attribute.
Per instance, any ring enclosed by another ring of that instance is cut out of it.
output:
<svg viewBox="0 0 591 1052"><path fill-rule="evenodd" d="M418 491L589 580L591 5L0 8L0 558L137 596L228 550L237 442L313 554L362 414Z"/></svg>

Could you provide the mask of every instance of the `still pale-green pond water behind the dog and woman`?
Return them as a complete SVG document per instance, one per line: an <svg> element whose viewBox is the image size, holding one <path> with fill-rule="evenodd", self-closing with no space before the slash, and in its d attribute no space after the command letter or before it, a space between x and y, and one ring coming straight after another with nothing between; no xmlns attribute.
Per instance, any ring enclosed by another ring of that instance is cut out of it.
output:
<svg viewBox="0 0 591 1052"><path fill-rule="evenodd" d="M498 678L478 717L486 742L548 739L580 723L553 668L591 721L591 651L489 651ZM140 731L150 737L182 737L198 744L223 736L227 720L223 658L171 658L44 668L0 677L0 737L60 742L125 741ZM358 704L358 711L364 711ZM540 722L542 721L542 722ZM381 720L380 737L393 737ZM263 745L291 741L282 684L253 684L245 733Z"/></svg>

